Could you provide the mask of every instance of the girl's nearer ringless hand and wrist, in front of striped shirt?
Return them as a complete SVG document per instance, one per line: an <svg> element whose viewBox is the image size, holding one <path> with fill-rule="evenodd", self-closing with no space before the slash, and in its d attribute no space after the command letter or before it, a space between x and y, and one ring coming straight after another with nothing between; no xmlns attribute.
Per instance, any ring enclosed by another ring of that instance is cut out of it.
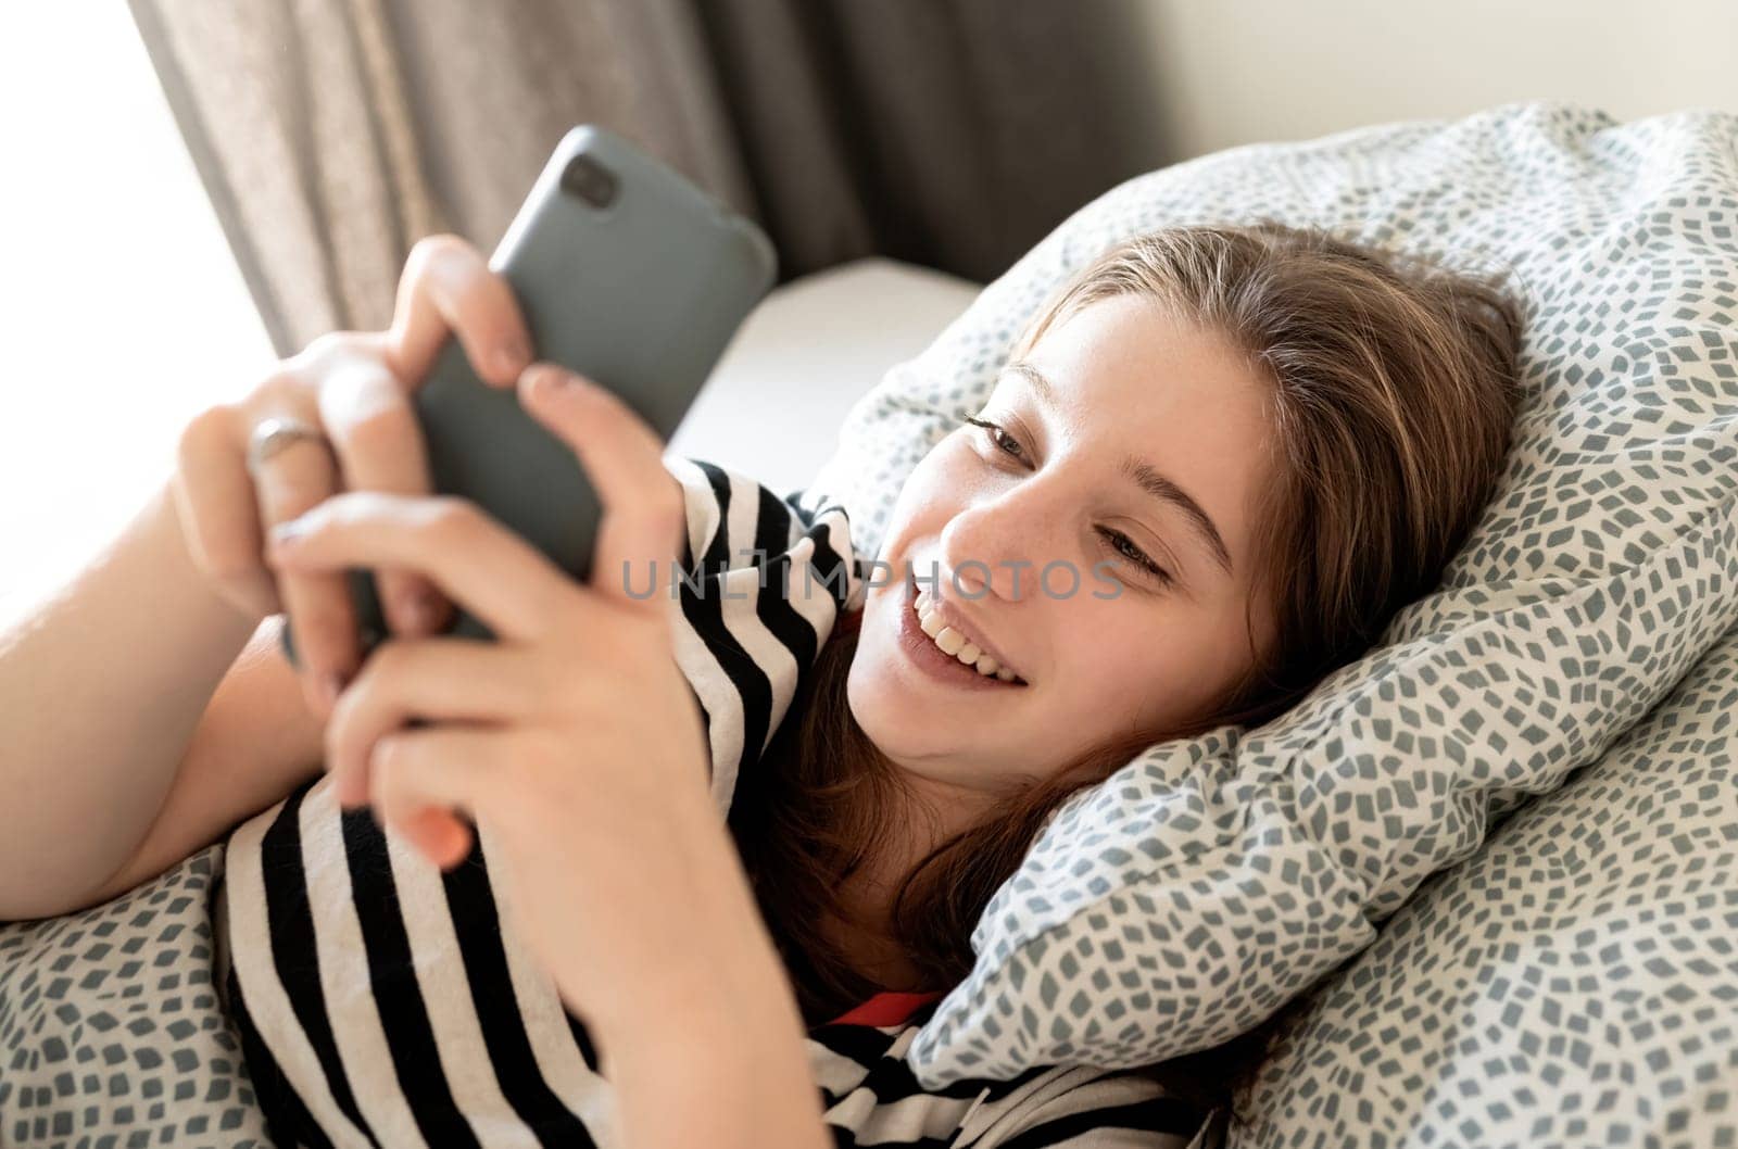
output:
<svg viewBox="0 0 1738 1149"><path fill-rule="evenodd" d="M268 561L297 575L415 572L499 636L375 648L327 727L337 800L372 803L443 869L471 848L450 812L488 833L504 900L570 1000L575 987L667 987L695 970L697 916L716 913L695 907L742 911L720 897L735 855L667 617L681 483L659 436L608 391L542 363L520 388L598 490L589 586L445 495L335 495L275 530ZM412 718L429 725L405 728ZM758 921L751 900L744 916Z"/></svg>

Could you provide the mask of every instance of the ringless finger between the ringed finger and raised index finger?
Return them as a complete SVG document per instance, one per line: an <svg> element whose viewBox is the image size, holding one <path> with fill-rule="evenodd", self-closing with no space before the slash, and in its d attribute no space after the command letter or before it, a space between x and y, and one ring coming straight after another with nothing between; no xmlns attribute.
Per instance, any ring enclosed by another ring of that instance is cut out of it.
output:
<svg viewBox="0 0 1738 1149"><path fill-rule="evenodd" d="M344 487L398 495L433 490L428 445L415 408L382 358L355 355L327 372L320 417L332 438ZM447 600L414 570L375 572L395 634L433 634L447 622Z"/></svg>

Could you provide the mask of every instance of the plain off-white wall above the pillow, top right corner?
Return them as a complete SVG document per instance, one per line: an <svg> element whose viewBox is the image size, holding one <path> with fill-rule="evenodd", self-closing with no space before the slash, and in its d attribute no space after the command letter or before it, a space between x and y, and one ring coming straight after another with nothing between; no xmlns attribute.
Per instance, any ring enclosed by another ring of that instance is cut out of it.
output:
<svg viewBox="0 0 1738 1149"><path fill-rule="evenodd" d="M1735 0L1111 0L1170 160L1568 99L1738 113Z"/></svg>

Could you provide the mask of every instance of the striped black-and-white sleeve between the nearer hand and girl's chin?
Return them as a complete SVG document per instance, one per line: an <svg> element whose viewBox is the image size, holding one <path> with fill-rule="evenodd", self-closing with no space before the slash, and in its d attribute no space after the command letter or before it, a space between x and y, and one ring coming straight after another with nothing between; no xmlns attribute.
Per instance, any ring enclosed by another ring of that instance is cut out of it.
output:
<svg viewBox="0 0 1738 1149"><path fill-rule="evenodd" d="M676 662L704 714L713 798L726 812L820 643L843 610L860 605L864 572L843 508L799 506L700 459L664 462L688 509L669 598Z"/></svg>

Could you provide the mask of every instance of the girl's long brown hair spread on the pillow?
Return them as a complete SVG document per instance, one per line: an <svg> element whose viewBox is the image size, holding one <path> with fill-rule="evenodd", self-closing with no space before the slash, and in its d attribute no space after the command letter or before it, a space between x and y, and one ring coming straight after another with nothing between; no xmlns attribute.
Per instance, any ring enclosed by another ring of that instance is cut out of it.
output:
<svg viewBox="0 0 1738 1149"><path fill-rule="evenodd" d="M1069 794L1154 742L1269 721L1430 591L1509 450L1521 313L1491 280L1265 219L1168 228L1112 247L1060 285L1012 355L1123 294L1222 334L1272 382L1272 466L1251 560L1274 643L1251 648L1248 674L1194 721L1058 763L905 874L893 940L930 989L970 973L978 914ZM843 880L883 840L883 819L902 810L899 770L846 701L859 621L841 615L761 767L744 772L730 817L810 1024L885 989L822 933L841 918ZM1246 1069L1258 1045L1225 1048Z"/></svg>

